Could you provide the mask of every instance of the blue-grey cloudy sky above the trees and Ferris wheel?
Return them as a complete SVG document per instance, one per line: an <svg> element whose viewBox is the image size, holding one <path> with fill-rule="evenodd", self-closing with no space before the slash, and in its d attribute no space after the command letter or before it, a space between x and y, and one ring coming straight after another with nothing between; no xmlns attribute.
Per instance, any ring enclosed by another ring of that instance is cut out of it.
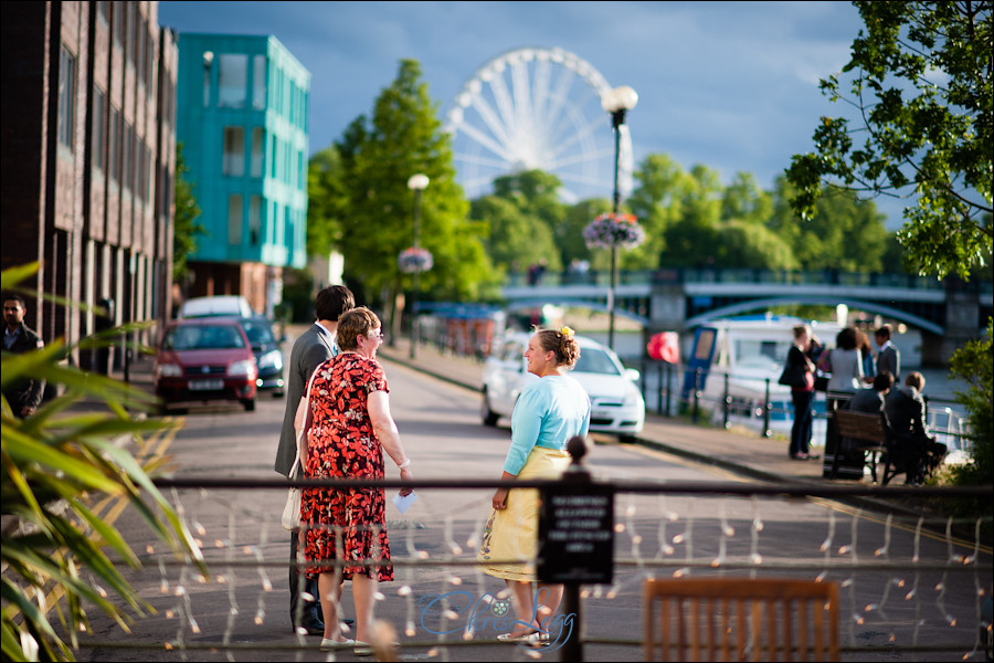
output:
<svg viewBox="0 0 994 663"><path fill-rule="evenodd" d="M726 183L751 172L766 189L791 155L812 148L819 116L844 113L817 83L846 63L863 25L848 2L618 1L161 1L159 23L180 32L275 35L313 75L311 152L371 112L402 59L420 62L444 116L493 59L525 46L559 48L612 87L638 92L627 116L636 162L665 152L685 169L717 170ZM610 141L601 113L592 133ZM888 227L900 224L899 208L880 209Z"/></svg>

